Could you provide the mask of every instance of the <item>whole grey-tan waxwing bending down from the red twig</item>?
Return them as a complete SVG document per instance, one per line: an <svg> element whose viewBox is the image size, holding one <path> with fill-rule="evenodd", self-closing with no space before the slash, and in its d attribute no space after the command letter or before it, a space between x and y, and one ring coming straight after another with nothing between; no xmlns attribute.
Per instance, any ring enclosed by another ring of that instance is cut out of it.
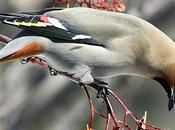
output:
<svg viewBox="0 0 175 130"><path fill-rule="evenodd" d="M122 13L90 8L0 14L0 22L22 28L0 50L0 62L38 57L80 84L96 78L137 75L159 82L175 104L175 43L152 24Z"/></svg>

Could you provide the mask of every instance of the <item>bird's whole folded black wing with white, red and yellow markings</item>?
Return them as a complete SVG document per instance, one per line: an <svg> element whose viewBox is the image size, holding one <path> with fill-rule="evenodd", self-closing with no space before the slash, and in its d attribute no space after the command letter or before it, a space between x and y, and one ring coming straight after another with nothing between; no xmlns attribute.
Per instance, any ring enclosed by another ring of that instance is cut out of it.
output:
<svg viewBox="0 0 175 130"><path fill-rule="evenodd" d="M50 9L48 11L52 10L53 9ZM57 15L59 15L59 10L60 9L57 10ZM42 14L45 12L47 12L47 10L41 11L40 13L0 14L0 22L29 30L45 37L51 37L52 39L102 46L102 44L99 44L90 34L81 31L78 26L72 25L63 19Z"/></svg>

